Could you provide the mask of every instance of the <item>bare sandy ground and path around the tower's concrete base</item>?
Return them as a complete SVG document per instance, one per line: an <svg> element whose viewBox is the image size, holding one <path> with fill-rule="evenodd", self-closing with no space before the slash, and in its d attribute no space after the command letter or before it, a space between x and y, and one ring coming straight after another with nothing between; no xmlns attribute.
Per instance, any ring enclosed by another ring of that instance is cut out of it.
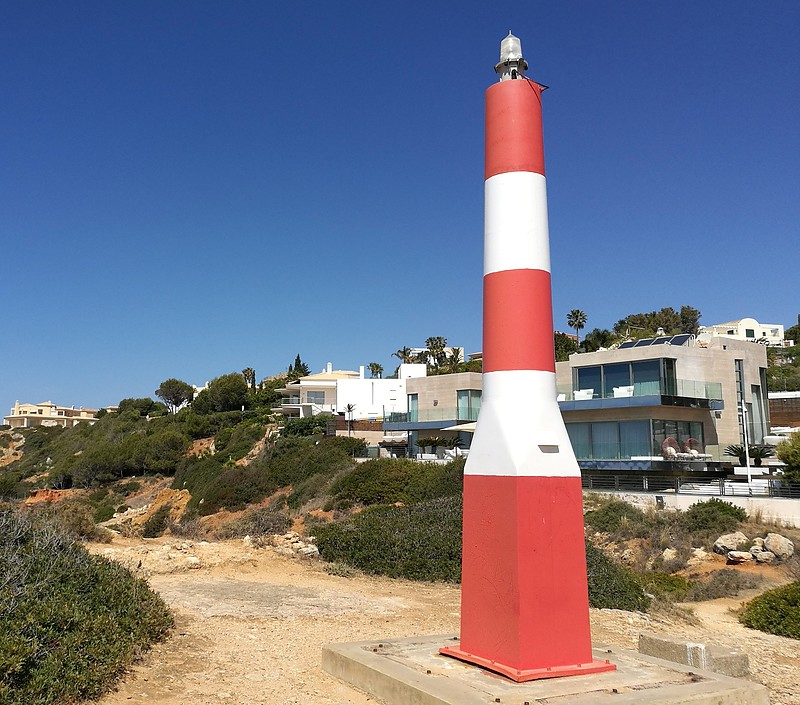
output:
<svg viewBox="0 0 800 705"><path fill-rule="evenodd" d="M241 541L115 539L91 550L146 575L176 614L176 629L135 665L101 705L364 705L376 702L320 667L322 645L458 632L457 587L358 575L248 548ZM199 566L199 567L198 567ZM693 605L680 618L592 610L595 645L636 648L649 631L743 650L752 679L777 705L800 705L800 644L742 627L741 599Z"/></svg>

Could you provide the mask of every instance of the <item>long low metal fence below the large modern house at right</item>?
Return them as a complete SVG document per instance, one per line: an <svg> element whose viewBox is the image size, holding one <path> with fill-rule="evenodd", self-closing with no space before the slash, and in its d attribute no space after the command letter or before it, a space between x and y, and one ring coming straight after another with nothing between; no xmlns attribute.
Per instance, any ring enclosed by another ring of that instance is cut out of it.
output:
<svg viewBox="0 0 800 705"><path fill-rule="evenodd" d="M726 478L679 477L626 473L583 474L586 490L605 492L649 492L652 494L693 494L712 497L785 497L800 499L800 484L777 478L737 481Z"/></svg>

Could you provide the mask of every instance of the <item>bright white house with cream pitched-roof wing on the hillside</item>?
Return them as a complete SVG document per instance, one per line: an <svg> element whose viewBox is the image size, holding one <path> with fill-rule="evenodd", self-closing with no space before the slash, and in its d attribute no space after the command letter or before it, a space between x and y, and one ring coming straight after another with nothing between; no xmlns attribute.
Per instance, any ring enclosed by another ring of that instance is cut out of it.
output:
<svg viewBox="0 0 800 705"><path fill-rule="evenodd" d="M367 378L364 366L334 370L329 362L322 372L306 375L278 391L281 405L276 413L292 418L317 414L346 414L351 421L381 420L384 414L408 409L406 380L425 377L424 364L400 365L396 379Z"/></svg>

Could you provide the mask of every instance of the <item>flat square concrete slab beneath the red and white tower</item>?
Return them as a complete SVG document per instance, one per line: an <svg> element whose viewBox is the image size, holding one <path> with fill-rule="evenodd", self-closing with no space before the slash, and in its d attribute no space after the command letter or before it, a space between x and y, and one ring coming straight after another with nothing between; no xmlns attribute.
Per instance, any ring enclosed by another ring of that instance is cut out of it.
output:
<svg viewBox="0 0 800 705"><path fill-rule="evenodd" d="M594 650L617 670L514 683L438 653L452 635L330 644L322 667L387 705L769 705L756 683L623 649Z"/></svg>

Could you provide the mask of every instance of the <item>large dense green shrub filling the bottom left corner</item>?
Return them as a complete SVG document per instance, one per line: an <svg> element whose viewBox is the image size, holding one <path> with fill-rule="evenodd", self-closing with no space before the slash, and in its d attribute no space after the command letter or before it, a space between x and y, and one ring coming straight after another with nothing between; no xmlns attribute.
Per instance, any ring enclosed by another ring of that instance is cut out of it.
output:
<svg viewBox="0 0 800 705"><path fill-rule="evenodd" d="M0 702L97 698L172 626L125 568L88 554L44 513L0 511Z"/></svg>

